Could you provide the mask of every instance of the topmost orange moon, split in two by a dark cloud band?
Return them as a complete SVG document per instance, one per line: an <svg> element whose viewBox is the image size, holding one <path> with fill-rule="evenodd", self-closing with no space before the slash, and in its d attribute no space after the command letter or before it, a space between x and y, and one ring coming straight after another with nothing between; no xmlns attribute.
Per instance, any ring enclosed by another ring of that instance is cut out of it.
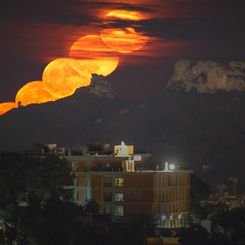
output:
<svg viewBox="0 0 245 245"><path fill-rule="evenodd" d="M115 22L116 20L140 21L144 19L144 16L136 11L113 10L106 15L105 19L109 22ZM139 50L148 40L147 36L137 32L133 27L108 27L102 29L100 34L104 43L119 53L131 53Z"/></svg>

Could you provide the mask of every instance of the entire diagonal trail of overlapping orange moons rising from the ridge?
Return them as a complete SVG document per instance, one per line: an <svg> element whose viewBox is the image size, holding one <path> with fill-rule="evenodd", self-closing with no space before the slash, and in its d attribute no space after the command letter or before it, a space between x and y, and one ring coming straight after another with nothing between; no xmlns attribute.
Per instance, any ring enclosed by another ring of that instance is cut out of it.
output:
<svg viewBox="0 0 245 245"><path fill-rule="evenodd" d="M107 20L140 21L149 16L138 11L112 10ZM119 64L116 52L131 53L141 49L148 37L132 27L105 28L100 35L86 35L71 46L69 58L51 61L43 71L42 81L24 85L16 94L15 102L0 104L0 115L22 106L55 101L72 95L76 89L89 86L92 74L107 76Z"/></svg>

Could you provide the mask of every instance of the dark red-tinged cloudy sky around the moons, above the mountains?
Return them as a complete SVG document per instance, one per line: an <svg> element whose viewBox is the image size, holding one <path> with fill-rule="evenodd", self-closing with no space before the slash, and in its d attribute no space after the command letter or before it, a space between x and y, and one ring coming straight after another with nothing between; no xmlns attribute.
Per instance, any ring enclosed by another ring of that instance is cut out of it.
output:
<svg viewBox="0 0 245 245"><path fill-rule="evenodd" d="M98 34L103 13L111 9L151 16L139 23L151 37L145 50L122 55L108 77L122 96L158 93L181 58L245 58L245 4L240 0L9 0L0 6L0 102L14 101L24 84L41 79L47 63L66 57L79 37Z"/></svg>

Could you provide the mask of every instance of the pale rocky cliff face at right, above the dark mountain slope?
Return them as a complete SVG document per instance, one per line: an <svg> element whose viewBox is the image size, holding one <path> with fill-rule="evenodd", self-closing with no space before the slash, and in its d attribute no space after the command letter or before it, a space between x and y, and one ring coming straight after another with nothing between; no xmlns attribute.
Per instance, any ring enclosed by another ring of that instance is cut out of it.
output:
<svg viewBox="0 0 245 245"><path fill-rule="evenodd" d="M245 62L220 64L210 60L181 60L175 64L167 88L198 93L245 91Z"/></svg>

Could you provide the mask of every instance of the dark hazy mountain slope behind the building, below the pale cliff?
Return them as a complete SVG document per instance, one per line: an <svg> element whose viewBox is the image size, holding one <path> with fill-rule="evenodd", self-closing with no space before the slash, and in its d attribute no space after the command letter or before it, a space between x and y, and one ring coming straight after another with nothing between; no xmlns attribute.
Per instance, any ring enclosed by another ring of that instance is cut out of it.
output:
<svg viewBox="0 0 245 245"><path fill-rule="evenodd" d="M0 150L25 150L37 142L72 147L123 140L152 153L152 164L180 163L204 178L202 166L214 166L213 179L208 177L213 186L229 175L244 183L245 93L166 89L133 101L116 96L100 79L105 86L99 96L81 88L62 100L0 117Z"/></svg>

